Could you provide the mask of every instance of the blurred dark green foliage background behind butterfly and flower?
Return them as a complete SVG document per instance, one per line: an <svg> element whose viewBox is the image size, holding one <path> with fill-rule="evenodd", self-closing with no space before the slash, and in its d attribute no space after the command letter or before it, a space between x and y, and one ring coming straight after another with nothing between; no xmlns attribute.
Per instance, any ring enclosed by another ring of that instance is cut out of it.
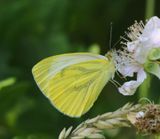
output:
<svg viewBox="0 0 160 139"><path fill-rule="evenodd" d="M138 92L124 97L109 83L86 115L69 118L42 95L31 69L51 55L98 52L99 47L105 54L110 49L110 23L113 23L113 45L134 20L144 20L145 3L145 0L1 0L0 139L56 139L63 127L113 111L128 101L136 102ZM155 12L160 15L158 8ZM159 99L159 83L153 78L149 98L155 102ZM136 138L133 129L127 130L105 134L108 138Z"/></svg>

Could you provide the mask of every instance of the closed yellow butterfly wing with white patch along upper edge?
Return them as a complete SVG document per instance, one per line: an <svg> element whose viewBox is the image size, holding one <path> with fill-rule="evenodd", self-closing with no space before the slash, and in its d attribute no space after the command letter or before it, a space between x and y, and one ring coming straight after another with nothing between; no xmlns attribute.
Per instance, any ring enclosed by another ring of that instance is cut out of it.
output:
<svg viewBox="0 0 160 139"><path fill-rule="evenodd" d="M79 117L92 107L114 72L113 62L90 53L52 56L32 69L44 95L71 117Z"/></svg>

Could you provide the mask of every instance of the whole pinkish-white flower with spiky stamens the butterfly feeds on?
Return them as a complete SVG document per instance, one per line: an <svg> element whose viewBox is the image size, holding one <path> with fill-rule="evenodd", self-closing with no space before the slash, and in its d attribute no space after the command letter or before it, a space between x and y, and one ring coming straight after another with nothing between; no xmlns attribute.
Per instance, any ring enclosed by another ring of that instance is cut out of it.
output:
<svg viewBox="0 0 160 139"><path fill-rule="evenodd" d="M123 95L133 95L146 79L146 71L160 78L160 19L152 17L146 25L135 22L126 33L125 47L114 53L116 68L124 77L137 76L118 88Z"/></svg>

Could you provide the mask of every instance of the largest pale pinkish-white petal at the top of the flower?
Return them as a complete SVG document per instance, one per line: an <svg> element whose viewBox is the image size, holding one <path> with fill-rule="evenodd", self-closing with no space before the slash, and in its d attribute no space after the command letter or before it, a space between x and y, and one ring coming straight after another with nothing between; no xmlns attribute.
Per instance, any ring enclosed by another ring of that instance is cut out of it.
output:
<svg viewBox="0 0 160 139"><path fill-rule="evenodd" d="M152 17L141 33L137 40L127 42L127 50L133 53L137 62L144 64L149 52L153 48L160 48L160 19Z"/></svg>

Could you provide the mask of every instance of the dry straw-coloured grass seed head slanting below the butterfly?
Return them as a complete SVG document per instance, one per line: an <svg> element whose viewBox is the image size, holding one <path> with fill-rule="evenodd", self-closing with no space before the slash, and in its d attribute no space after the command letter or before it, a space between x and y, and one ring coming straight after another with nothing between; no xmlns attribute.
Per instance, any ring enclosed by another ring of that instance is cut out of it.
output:
<svg viewBox="0 0 160 139"><path fill-rule="evenodd" d="M137 112L141 105L125 104L122 108L98 115L95 118L88 119L76 129L71 132L71 127L66 131L63 129L60 133L59 139L84 139L84 138L98 138L104 139L103 130L113 129L118 127L129 127L130 123L127 119L129 112Z"/></svg>

